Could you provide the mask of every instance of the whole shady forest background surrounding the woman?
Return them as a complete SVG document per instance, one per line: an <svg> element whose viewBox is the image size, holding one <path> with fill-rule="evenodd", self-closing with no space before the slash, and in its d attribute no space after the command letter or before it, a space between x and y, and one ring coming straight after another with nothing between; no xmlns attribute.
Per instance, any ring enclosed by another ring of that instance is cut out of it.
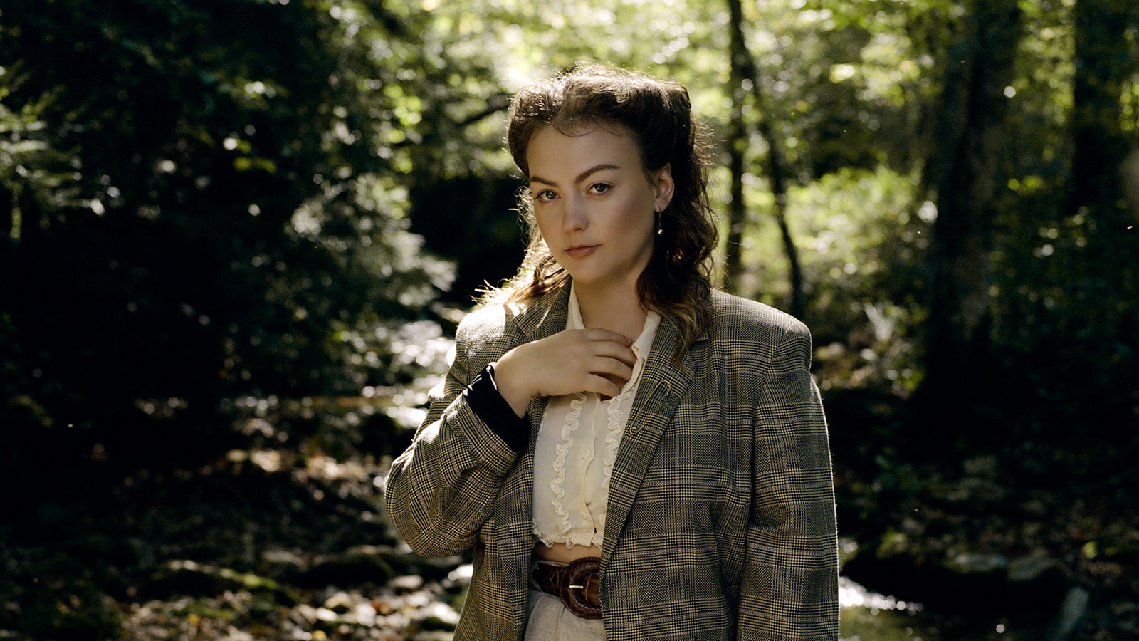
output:
<svg viewBox="0 0 1139 641"><path fill-rule="evenodd" d="M445 638L376 479L521 259L510 94L601 60L688 86L719 282L813 331L844 575L1139 638L1134 2L606 5L0 6L0 636Z"/></svg>

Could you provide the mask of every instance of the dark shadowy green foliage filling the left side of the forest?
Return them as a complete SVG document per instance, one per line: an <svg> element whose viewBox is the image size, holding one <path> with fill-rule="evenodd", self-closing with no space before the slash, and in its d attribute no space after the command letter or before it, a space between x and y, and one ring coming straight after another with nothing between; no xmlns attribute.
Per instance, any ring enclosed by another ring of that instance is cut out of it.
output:
<svg viewBox="0 0 1139 641"><path fill-rule="evenodd" d="M0 14L0 261L19 275L0 331L21 373L5 422L130 441L141 399L183 399L175 419L199 423L226 396L415 376L375 328L431 317L450 284L409 232L405 143L459 91L410 89L449 68L418 48L415 16L351 1L88 14ZM353 358L350 330L378 336L375 358Z"/></svg>

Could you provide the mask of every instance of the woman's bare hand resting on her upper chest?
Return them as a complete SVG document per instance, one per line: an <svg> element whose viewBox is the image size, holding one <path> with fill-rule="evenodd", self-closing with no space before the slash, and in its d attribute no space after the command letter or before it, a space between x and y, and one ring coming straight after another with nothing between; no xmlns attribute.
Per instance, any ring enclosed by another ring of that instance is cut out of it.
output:
<svg viewBox="0 0 1139 641"><path fill-rule="evenodd" d="M535 396L616 396L637 363L631 346L608 330L565 330L503 354L494 365L494 383L518 416Z"/></svg>

